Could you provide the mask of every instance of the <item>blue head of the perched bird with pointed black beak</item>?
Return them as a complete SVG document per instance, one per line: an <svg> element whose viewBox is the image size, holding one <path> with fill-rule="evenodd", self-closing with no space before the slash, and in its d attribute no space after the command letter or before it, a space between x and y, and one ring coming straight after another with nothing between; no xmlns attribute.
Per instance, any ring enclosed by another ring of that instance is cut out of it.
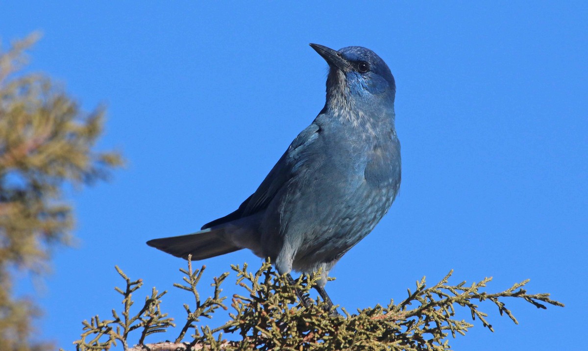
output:
<svg viewBox="0 0 588 351"><path fill-rule="evenodd" d="M310 46L329 63L327 104L339 107L347 104L348 108L374 103L393 106L394 76L375 52L362 46L348 46L339 51L318 44Z"/></svg>

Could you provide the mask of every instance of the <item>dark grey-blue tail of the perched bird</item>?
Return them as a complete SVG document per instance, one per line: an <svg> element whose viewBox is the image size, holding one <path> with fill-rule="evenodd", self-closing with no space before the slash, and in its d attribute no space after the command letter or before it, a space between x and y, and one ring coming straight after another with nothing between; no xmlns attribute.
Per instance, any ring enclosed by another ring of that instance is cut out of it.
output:
<svg viewBox="0 0 588 351"><path fill-rule="evenodd" d="M192 260L202 260L242 249L223 239L224 232L223 228L208 228L188 235L149 240L147 245L183 259L188 259L188 255L192 255Z"/></svg>

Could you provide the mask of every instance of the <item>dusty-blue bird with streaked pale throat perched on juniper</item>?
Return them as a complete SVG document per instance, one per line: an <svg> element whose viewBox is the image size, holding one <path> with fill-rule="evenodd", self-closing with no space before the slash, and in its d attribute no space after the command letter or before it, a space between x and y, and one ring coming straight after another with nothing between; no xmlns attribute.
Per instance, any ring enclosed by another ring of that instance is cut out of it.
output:
<svg viewBox="0 0 588 351"><path fill-rule="evenodd" d="M322 269L315 288L330 308L329 270L372 231L400 188L396 83L370 49L310 46L329 64L325 107L255 193L199 232L147 244L193 260L247 248L290 281L292 270Z"/></svg>

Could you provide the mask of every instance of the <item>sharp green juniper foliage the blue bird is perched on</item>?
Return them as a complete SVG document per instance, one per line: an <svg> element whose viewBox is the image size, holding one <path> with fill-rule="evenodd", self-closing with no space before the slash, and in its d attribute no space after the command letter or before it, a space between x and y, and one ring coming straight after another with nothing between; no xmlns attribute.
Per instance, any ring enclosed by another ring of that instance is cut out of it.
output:
<svg viewBox="0 0 588 351"><path fill-rule="evenodd" d="M563 306L551 300L547 293L528 294L523 286L529 280L503 292L486 293L480 290L492 278L470 285L466 282L449 285L453 273L449 272L430 288L426 287L425 278L417 281L415 290L409 289L406 299L400 303L391 300L385 307L376 305L353 315L342 308L345 316L332 317L325 302L317 300L303 307L295 293L298 288L308 294L320 272L302 276L296 286L291 286L267 260L256 272L250 271L246 264L232 266L237 274L236 283L244 289L243 295L233 296L228 322L211 329L198 322L201 317L211 318L219 307L228 308L224 303L226 297L220 295L220 284L229 273L214 279L214 296L202 302L196 285L205 267L193 270L192 262L188 261L188 269L181 269L186 285L175 286L192 293L195 309L184 305L186 322L174 342L145 343L145 336L174 326L172 319L159 309L165 292L158 293L153 288L141 310L131 317L131 296L142 282L132 282L122 270L116 269L126 281L125 289L116 288L123 295L124 310L121 314L113 310L113 319L95 316L91 322L84 321L82 337L75 342L76 350L108 350L118 345L117 342L125 350L451 350L449 335L465 335L473 327L465 320L455 319L456 306L470 310L472 319L480 320L490 330L493 329L487 314L479 310L476 301L495 303L500 315L506 314L515 323L515 316L503 302L505 297L519 297L542 309L547 304ZM135 347L128 345L132 330L138 330L133 337L133 340L139 337ZM186 337L188 330L191 330L190 337ZM227 335L233 341L223 340Z"/></svg>

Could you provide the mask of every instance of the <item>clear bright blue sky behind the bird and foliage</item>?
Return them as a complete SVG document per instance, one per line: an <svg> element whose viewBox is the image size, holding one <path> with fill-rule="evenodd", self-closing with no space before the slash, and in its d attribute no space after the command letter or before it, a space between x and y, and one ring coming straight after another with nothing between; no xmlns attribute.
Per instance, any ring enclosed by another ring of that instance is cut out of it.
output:
<svg viewBox="0 0 588 351"><path fill-rule="evenodd" d="M350 311L398 301L450 269L453 283L495 277L493 292L530 278L530 292L566 307L507 301L517 326L485 305L496 332L476 321L451 344L577 349L588 312L587 4L4 4L4 46L42 31L31 69L88 110L104 103L98 146L128 160L111 182L71 196L78 248L56 250L42 288L19 284L45 310L39 336L72 350L83 319L121 307L114 265L145 280L139 300L151 286L172 289L184 263L145 241L193 232L257 188L323 106L314 42L366 46L387 62L402 143L400 196L333 269L333 300ZM206 260L203 295L242 262L259 259L243 250ZM228 296L240 291L234 278ZM163 308L182 320L191 299L175 290Z"/></svg>

